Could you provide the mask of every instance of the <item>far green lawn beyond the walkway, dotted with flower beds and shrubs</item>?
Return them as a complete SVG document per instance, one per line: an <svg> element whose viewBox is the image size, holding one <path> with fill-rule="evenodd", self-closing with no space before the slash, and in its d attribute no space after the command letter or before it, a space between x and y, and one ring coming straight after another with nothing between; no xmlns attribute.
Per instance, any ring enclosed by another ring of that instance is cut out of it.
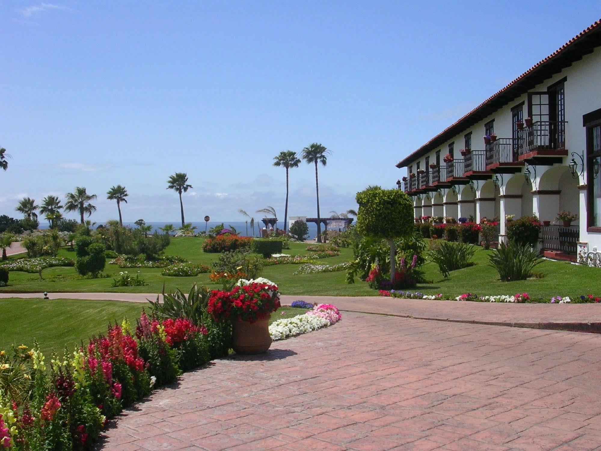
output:
<svg viewBox="0 0 601 451"><path fill-rule="evenodd" d="M202 250L203 238L172 238L171 245L166 248L165 254L185 257L193 263L210 265L219 254L204 253ZM285 254L308 254L306 243L292 243L290 250ZM579 296L593 293L601 295L597 280L599 269L587 266L571 265L567 262L545 261L536 268L544 277L533 278L527 281L502 283L498 280L496 271L487 265L487 255L478 247L474 262L470 268L451 272L447 280L441 277L436 265L424 265L427 280L432 283L419 284L416 290L424 294L442 293L445 296L457 296L461 293L472 292L477 295L515 294L528 292L531 296L551 298L555 295ZM59 256L73 258L73 251L63 249ZM13 256L14 258L14 256ZM353 258L350 248L341 249L340 256L318 260L319 263L333 265ZM367 283L357 280L355 284L345 282L345 272L326 272L322 274L293 275L299 265L275 265L263 269L263 277L276 282L284 295L332 295L332 296L373 296L377 292L371 290ZM148 283L140 287L111 287L112 278L118 277L120 271L136 273L138 269L120 269L116 265L107 265L105 274L109 278L89 279L76 274L74 268L48 268L43 271L44 280L40 281L37 274L25 272L11 272L8 286L0 287L0 292L40 293L53 292L129 292L129 293L157 293L162 290L175 290L180 288L187 292L193 283L206 285L218 289L221 286L210 283L209 274L199 274L197 277L167 277L160 274L161 269L141 268L140 277Z"/></svg>

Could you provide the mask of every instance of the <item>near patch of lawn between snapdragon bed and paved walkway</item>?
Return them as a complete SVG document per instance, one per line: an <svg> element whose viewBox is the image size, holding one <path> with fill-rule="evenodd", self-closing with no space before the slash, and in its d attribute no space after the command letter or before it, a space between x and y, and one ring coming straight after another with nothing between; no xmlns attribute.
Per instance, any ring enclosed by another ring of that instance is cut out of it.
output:
<svg viewBox="0 0 601 451"><path fill-rule="evenodd" d="M0 350L11 345L30 346L37 340L44 354L54 349L62 354L65 346L84 342L106 333L109 323L121 323L124 316L135 325L146 304L119 301L82 301L79 299L0 299L4 326L0 328ZM305 308L282 307L272 314L270 323L305 313Z"/></svg>

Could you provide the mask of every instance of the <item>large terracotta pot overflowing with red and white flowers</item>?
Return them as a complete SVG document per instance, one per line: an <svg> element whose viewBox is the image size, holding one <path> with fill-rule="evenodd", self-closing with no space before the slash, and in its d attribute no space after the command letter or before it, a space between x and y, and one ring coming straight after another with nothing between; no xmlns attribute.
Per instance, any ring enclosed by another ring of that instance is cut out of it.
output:
<svg viewBox="0 0 601 451"><path fill-rule="evenodd" d="M215 321L231 321L234 351L260 354L271 346L269 318L279 307L276 284L267 279L241 279L231 291L213 290L207 311Z"/></svg>

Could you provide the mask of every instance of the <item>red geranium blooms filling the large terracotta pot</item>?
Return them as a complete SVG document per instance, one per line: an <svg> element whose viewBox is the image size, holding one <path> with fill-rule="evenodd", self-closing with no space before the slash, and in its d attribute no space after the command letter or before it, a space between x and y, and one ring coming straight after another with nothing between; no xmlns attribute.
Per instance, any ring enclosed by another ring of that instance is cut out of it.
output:
<svg viewBox="0 0 601 451"><path fill-rule="evenodd" d="M278 286L253 282L231 291L213 290L207 311L216 319L240 319L255 322L278 310Z"/></svg>

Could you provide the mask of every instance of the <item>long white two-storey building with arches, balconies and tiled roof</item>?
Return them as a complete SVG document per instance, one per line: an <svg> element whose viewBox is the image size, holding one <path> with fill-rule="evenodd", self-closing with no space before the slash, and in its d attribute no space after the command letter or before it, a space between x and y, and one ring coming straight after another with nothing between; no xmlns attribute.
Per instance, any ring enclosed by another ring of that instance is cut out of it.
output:
<svg viewBox="0 0 601 451"><path fill-rule="evenodd" d="M407 168L400 185L413 198L416 218L499 218L502 241L506 215L535 214L551 221L543 227L545 253L575 260L601 250L600 159L595 22L397 167ZM564 226L556 219L561 210L578 219Z"/></svg>

